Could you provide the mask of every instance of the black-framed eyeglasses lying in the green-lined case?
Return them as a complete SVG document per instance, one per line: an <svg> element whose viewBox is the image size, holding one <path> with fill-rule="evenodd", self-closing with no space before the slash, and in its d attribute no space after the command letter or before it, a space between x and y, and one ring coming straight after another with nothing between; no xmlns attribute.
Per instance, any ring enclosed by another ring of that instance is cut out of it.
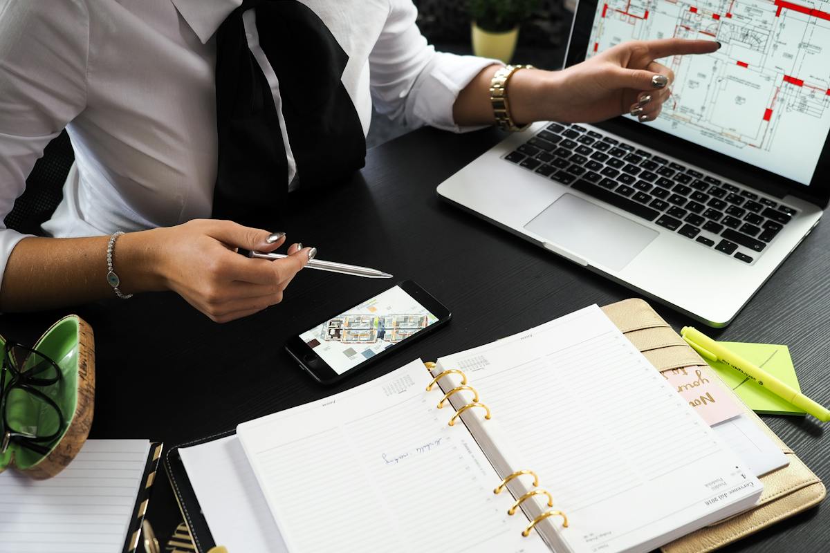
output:
<svg viewBox="0 0 830 553"><path fill-rule="evenodd" d="M22 352L26 353L25 357L19 361L21 363L20 366L25 366L26 361L32 357L32 355L41 357L49 365L46 365L39 370L38 366L33 366L27 371L21 371L17 367L18 360L12 355L12 351L14 350L22 350ZM50 365L55 371L54 377L43 378L37 376L41 374L41 372L50 368ZM8 384L6 383L7 372L11 375ZM61 412L61 408L58 407L55 401L48 395L44 394L41 390L37 390L34 386L52 386L61 381L62 376L61 367L58 366L55 361L52 361L51 357L42 352L38 352L32 347L23 346L22 344L16 342L6 342L3 347L2 365L0 365L0 415L2 415L2 417L0 417L2 418L2 421L0 421L2 422L2 429L0 429L0 434L2 434L0 454L5 454L8 446L12 443L21 445L22 447L30 449L37 454L46 455L49 453L51 447L46 447L44 444L49 444L63 433L64 427L66 426L66 418ZM46 436L37 436L35 434L29 434L27 432L21 432L13 429L8 423L7 415L7 400L8 396L12 393L12 390L22 390L29 395L37 397L46 405L49 405L51 409L55 410L58 417L56 431Z"/></svg>

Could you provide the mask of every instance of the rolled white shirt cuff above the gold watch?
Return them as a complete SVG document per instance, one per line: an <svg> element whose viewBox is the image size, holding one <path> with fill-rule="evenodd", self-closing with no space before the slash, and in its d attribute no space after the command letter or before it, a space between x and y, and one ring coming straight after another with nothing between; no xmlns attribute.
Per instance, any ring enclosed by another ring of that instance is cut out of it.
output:
<svg viewBox="0 0 830 553"><path fill-rule="evenodd" d="M490 65L504 65L501 61L476 56L457 56L436 52L422 70L410 91L407 120L428 124L454 133L483 129L489 125L461 127L452 117L452 106L458 94L476 75ZM413 126L417 126L413 125Z"/></svg>

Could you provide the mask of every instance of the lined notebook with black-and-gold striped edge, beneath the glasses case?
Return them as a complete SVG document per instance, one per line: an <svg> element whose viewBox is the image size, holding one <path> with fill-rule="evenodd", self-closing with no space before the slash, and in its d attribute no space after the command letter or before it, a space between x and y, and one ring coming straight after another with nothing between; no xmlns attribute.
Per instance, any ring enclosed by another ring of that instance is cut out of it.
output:
<svg viewBox="0 0 830 553"><path fill-rule="evenodd" d="M0 553L130 553L161 458L145 439L89 439L54 478L0 473Z"/></svg>

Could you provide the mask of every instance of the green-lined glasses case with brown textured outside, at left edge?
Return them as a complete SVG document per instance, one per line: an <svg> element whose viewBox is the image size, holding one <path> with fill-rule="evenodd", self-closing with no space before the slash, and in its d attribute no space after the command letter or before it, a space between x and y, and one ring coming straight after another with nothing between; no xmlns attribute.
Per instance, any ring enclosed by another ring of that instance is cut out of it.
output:
<svg viewBox="0 0 830 553"><path fill-rule="evenodd" d="M0 347L5 343L5 339L0 337ZM11 466L33 478L49 478L60 473L75 458L92 424L95 404L94 347L90 326L77 315L62 318L37 341L34 348L50 357L61 369L61 381L39 389L60 407L66 419L64 431L51 444L46 455L12 442L6 453L0 454L0 471ZM7 405L10 424L15 420L37 418L43 421L54 416L46 410L33 414L33 405L25 395L11 396Z"/></svg>

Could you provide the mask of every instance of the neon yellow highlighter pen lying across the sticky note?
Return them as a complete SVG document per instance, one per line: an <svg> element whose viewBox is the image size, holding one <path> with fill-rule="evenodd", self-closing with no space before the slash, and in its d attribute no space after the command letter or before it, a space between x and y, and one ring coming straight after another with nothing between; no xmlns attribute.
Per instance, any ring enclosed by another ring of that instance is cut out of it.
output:
<svg viewBox="0 0 830 553"><path fill-rule="evenodd" d="M819 405L815 401L803 395L800 391L793 389L784 381L764 371L759 366L747 361L739 354L730 351L722 344L715 342L703 332L698 331L694 327L683 327L681 336L688 344L701 354L701 357L706 361L717 361L723 363L735 371L740 372L741 375L749 378L758 386L765 390L778 395L785 401L795 405L798 409L803 410L810 415L813 415L818 420L827 422L830 420L830 410Z"/></svg>

